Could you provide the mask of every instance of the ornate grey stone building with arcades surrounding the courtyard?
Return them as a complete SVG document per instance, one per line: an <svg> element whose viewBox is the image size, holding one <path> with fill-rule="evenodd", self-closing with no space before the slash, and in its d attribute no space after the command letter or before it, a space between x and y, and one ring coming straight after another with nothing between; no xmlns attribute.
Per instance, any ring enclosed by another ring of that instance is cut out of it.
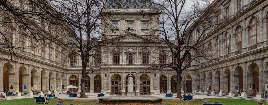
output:
<svg viewBox="0 0 268 105"><path fill-rule="evenodd" d="M89 64L94 73L86 76L86 93L107 93L126 95L128 77L132 74L135 95L159 95L176 93L176 72L171 68L148 68L155 64L175 62L165 46L159 43L145 43L158 38L153 30L159 26L159 20L153 1L123 0L120 3L109 1L102 14L107 25L102 32L111 37L118 35L123 38L118 45L98 48L97 55L90 58ZM204 61L206 66L185 70L182 91L186 93L237 95L237 88L242 88L241 96L257 96L266 89L268 80L268 2L265 0L215 0L221 10L220 17L228 15L233 19L220 35L209 33L202 37L204 48L210 49L221 63ZM118 9L118 4L120 8ZM236 18L233 18L236 17ZM23 29L9 24L12 20L3 19L1 32L8 35L8 40L18 47L31 46L31 38L20 35ZM12 23L12 22L11 22ZM13 28L12 28L12 27ZM15 27L15 28L14 28ZM198 35L196 33L196 35ZM194 38L194 37L193 37ZM3 42L1 42L3 43ZM65 54L55 43L40 43L34 49L18 49L15 61L10 61L9 51L0 54L0 92L25 91L33 95L32 90L39 94L59 92L68 85L77 86L72 89L81 90L82 74L81 58L73 54L68 62L62 63ZM188 57L195 52L188 54ZM197 62L192 62L196 64ZM186 73L187 72L187 73ZM16 94L20 96L19 94Z"/></svg>

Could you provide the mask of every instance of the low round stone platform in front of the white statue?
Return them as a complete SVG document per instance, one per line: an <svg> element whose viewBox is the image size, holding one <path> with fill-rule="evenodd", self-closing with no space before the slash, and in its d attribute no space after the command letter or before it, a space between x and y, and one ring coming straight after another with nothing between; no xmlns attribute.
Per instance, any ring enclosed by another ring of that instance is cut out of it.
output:
<svg viewBox="0 0 268 105"><path fill-rule="evenodd" d="M156 102L161 103L163 97L159 96L102 96L99 102Z"/></svg>

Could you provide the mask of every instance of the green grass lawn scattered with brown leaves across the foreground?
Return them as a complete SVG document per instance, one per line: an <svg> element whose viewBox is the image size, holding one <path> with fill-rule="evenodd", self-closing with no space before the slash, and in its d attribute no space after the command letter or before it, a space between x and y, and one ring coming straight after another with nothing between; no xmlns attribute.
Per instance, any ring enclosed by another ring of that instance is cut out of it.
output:
<svg viewBox="0 0 268 105"><path fill-rule="evenodd" d="M253 100L243 100L243 99L229 99L229 98L205 98L204 101L208 103L214 103L214 101L218 100L219 103L223 103L224 105L257 105L257 101ZM204 101L176 101L176 100L164 100L163 102L166 105L201 105ZM65 105L90 105L97 103L98 100L93 101L63 101ZM58 103L58 99L49 99L49 105L56 105ZM16 99L16 100L6 100L0 101L0 105L31 105L34 104L34 98L24 98L24 99ZM48 105L46 104L46 105ZM266 105L267 102L264 102Z"/></svg>

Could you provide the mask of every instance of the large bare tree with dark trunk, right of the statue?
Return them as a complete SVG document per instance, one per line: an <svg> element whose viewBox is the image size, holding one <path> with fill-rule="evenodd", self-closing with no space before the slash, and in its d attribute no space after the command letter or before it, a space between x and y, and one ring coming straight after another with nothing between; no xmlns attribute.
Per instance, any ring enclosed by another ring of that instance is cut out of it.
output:
<svg viewBox="0 0 268 105"><path fill-rule="evenodd" d="M177 98L181 98L183 71L205 65L205 61L216 62L218 56L213 56L212 49L203 47L202 41L206 36L217 33L221 26L229 23L227 16L221 15L217 1L191 1L187 0L160 0L155 6L161 12L157 23L160 34L154 38L155 42L161 42L162 48L168 49L172 59L167 63L150 68L171 68L177 75ZM194 54L194 55L193 55Z"/></svg>

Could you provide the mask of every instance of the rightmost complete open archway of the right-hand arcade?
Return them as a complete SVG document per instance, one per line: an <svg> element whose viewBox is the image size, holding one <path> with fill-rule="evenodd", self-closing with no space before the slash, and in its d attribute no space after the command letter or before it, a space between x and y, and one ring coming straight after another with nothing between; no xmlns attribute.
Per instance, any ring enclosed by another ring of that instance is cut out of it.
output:
<svg viewBox="0 0 268 105"><path fill-rule="evenodd" d="M247 85L249 85L247 94L256 95L259 92L259 66L256 63L249 65L247 70Z"/></svg>

